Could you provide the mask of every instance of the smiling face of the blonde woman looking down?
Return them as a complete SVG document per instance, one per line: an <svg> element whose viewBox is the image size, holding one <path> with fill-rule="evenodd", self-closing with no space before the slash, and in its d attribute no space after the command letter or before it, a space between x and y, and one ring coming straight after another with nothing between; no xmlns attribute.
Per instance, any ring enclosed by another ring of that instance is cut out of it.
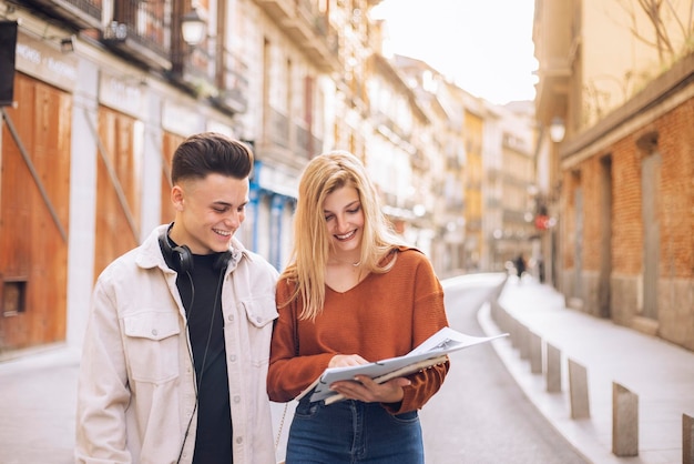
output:
<svg viewBox="0 0 694 464"><path fill-rule="evenodd" d="M323 203L330 251L358 260L361 252L364 210L354 186L343 186L328 194Z"/></svg>

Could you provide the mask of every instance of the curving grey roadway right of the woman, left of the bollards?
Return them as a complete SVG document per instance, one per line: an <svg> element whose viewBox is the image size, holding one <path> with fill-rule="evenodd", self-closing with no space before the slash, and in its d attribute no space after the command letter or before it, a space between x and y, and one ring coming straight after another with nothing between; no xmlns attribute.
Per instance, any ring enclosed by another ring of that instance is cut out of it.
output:
<svg viewBox="0 0 694 464"><path fill-rule="evenodd" d="M450 325L484 335L478 313L503 275L443 282ZM540 414L497 356L508 339L451 354L441 390L420 416L427 464L584 464L586 461Z"/></svg>

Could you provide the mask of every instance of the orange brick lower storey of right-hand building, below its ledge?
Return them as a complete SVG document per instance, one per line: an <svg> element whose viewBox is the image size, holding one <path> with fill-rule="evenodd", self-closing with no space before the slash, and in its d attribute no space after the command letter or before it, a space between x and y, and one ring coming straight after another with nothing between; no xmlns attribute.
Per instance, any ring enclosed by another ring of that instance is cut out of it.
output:
<svg viewBox="0 0 694 464"><path fill-rule="evenodd" d="M562 290L694 350L694 56L562 158Z"/></svg>

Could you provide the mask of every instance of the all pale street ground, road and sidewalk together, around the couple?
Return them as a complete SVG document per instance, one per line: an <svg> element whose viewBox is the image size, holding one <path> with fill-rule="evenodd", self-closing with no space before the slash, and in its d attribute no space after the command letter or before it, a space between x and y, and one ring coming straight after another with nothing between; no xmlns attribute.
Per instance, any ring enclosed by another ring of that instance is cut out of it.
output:
<svg viewBox="0 0 694 464"><path fill-rule="evenodd" d="M478 278L467 279L468 284L489 289L483 282L470 283ZM459 305L462 300L449 300L455 294L451 281L445 284L453 329L471 335L498 330L488 310L477 311L489 292L468 292L465 305ZM694 353L567 310L547 285L510 280L499 301L565 356L586 366L591 417L570 420L567 384L563 393L548 394L542 375L530 373L510 340L472 346L451 355L449 377L422 410L428 464L567 464L582 462L581 455L595 464L682 462L682 414L694 414ZM472 317L480 325L472 324ZM79 352L67 347L0 362L0 464L73 462L78 369ZM612 381L640 395L636 457L611 453ZM289 404L278 450L286 441ZM275 430L283 411L283 404L273 404Z"/></svg>

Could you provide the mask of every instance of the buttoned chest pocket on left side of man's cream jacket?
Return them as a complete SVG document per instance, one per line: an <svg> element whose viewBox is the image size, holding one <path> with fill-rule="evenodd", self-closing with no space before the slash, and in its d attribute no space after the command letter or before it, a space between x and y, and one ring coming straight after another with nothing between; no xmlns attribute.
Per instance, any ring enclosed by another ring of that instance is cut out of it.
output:
<svg viewBox="0 0 694 464"><path fill-rule="evenodd" d="M125 352L134 381L162 383L178 375L178 314L143 311L123 319Z"/></svg>

